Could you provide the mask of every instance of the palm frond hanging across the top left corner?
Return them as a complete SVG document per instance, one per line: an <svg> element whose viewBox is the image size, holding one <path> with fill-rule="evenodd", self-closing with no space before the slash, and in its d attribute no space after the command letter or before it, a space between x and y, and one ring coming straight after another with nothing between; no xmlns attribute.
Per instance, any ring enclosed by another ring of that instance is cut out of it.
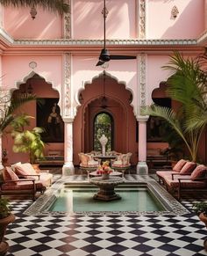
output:
<svg viewBox="0 0 207 256"><path fill-rule="evenodd" d="M69 4L64 0L0 0L0 4L13 7L41 7L48 11L57 11L61 15L69 12Z"/></svg>

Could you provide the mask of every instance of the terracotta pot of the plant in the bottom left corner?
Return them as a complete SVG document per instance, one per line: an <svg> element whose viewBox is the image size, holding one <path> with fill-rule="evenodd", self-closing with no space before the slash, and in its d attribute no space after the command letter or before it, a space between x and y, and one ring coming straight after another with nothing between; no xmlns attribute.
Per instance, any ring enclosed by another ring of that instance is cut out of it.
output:
<svg viewBox="0 0 207 256"><path fill-rule="evenodd" d="M15 216L13 214L5 217L4 219L0 219L0 255L4 255L6 252L8 252L9 245L3 240L8 224L13 223L14 220Z"/></svg>

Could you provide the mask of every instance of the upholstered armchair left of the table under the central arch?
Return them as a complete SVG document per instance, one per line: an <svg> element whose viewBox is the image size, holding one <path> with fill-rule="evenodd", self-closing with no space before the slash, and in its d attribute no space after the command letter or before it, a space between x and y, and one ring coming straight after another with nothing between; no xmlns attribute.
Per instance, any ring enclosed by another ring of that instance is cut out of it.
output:
<svg viewBox="0 0 207 256"><path fill-rule="evenodd" d="M96 161L94 156L90 154L79 153L78 156L80 158L80 168L82 171L85 170L87 172L89 178L89 172L96 171L100 161Z"/></svg>

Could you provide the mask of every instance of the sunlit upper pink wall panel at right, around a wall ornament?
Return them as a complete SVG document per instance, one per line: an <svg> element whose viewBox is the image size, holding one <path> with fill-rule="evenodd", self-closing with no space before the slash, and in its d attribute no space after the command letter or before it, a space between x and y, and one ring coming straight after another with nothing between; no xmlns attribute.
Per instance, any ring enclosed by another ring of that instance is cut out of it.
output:
<svg viewBox="0 0 207 256"><path fill-rule="evenodd" d="M204 30L203 0L147 0L147 38L190 39ZM173 6L178 8L177 18L171 17Z"/></svg>

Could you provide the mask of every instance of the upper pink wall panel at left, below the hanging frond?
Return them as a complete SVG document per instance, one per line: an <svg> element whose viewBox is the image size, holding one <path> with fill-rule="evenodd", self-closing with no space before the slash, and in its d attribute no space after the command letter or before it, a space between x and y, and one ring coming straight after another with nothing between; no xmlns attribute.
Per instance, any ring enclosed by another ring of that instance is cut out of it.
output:
<svg viewBox="0 0 207 256"><path fill-rule="evenodd" d="M14 39L58 39L62 36L61 16L37 9L32 20L29 8L4 8L4 29Z"/></svg>

